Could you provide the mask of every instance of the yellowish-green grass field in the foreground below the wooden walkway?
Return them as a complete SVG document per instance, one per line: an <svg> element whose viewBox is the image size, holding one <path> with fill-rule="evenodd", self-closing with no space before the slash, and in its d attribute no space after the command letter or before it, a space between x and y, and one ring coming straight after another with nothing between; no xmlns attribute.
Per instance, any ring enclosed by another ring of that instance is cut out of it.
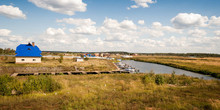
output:
<svg viewBox="0 0 220 110"><path fill-rule="evenodd" d="M51 77L62 89L0 96L0 109L220 109L220 82L216 80L155 74ZM28 77L15 78L24 81Z"/></svg>

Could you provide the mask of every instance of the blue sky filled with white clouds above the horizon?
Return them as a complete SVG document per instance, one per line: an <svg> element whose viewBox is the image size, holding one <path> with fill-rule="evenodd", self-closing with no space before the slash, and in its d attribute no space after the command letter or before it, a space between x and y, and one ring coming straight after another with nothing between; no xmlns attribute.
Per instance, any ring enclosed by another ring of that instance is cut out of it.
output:
<svg viewBox="0 0 220 110"><path fill-rule="evenodd" d="M220 0L0 0L0 48L220 54Z"/></svg>

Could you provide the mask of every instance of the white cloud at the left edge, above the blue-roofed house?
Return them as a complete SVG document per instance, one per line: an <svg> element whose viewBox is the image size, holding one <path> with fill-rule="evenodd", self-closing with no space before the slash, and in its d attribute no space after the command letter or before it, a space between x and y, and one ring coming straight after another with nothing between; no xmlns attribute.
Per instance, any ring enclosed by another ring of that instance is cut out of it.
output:
<svg viewBox="0 0 220 110"><path fill-rule="evenodd" d="M0 6L0 15L6 16L12 19L26 19L26 15L18 7L13 6Z"/></svg>

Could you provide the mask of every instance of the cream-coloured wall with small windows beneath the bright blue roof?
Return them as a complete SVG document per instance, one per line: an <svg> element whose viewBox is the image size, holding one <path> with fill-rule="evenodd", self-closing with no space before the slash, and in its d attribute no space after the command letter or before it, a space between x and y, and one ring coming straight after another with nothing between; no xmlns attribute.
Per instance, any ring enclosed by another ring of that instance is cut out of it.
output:
<svg viewBox="0 0 220 110"><path fill-rule="evenodd" d="M41 63L41 57L16 57L16 63Z"/></svg>

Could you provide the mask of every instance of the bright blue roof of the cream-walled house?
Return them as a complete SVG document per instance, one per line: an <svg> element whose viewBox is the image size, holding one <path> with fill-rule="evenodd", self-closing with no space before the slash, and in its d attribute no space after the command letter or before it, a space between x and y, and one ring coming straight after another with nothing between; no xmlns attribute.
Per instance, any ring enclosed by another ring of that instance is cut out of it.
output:
<svg viewBox="0 0 220 110"><path fill-rule="evenodd" d="M16 48L16 57L42 57L41 50L35 45L20 44Z"/></svg>

